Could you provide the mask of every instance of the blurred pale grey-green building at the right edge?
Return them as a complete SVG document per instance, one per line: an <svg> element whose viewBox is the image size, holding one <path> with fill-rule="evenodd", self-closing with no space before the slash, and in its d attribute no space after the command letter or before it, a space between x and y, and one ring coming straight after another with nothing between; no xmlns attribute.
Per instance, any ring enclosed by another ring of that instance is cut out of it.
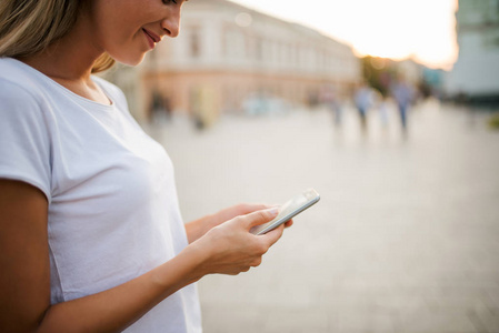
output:
<svg viewBox="0 0 499 333"><path fill-rule="evenodd" d="M499 0L459 0L459 58L446 80L450 97L499 98Z"/></svg>

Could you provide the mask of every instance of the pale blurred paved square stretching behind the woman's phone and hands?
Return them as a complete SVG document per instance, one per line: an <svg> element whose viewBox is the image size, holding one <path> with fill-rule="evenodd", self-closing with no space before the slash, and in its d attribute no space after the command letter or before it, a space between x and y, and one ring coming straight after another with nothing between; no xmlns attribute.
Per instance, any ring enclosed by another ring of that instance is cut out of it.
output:
<svg viewBox="0 0 499 333"><path fill-rule="evenodd" d="M169 152L186 221L315 188L263 263L199 282L206 333L499 332L499 131L436 101L183 118L147 127Z"/></svg>

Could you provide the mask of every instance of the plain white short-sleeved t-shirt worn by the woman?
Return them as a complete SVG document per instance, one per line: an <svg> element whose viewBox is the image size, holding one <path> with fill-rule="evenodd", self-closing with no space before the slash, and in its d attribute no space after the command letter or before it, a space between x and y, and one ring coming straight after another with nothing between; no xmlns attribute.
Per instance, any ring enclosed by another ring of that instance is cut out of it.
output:
<svg viewBox="0 0 499 333"><path fill-rule="evenodd" d="M52 304L122 284L187 246L168 154L132 119L122 92L92 79L111 105L0 59L0 178L47 195ZM124 332L201 331L191 284Z"/></svg>

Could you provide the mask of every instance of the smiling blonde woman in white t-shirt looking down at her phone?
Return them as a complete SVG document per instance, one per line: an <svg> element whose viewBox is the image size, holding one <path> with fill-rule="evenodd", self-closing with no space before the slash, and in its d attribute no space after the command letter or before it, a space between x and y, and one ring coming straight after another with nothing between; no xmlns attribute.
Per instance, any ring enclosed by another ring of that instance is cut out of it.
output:
<svg viewBox="0 0 499 333"><path fill-rule="evenodd" d="M248 232L267 205L183 224L168 155L92 75L176 37L182 3L0 3L1 332L201 332L193 282L281 236Z"/></svg>

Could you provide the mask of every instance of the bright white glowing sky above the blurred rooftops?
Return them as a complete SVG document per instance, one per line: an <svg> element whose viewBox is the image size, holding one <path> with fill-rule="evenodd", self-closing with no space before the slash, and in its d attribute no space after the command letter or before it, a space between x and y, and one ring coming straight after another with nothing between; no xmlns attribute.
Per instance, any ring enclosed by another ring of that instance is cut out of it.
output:
<svg viewBox="0 0 499 333"><path fill-rule="evenodd" d="M352 47L357 56L412 58L450 70L458 0L231 0Z"/></svg>

